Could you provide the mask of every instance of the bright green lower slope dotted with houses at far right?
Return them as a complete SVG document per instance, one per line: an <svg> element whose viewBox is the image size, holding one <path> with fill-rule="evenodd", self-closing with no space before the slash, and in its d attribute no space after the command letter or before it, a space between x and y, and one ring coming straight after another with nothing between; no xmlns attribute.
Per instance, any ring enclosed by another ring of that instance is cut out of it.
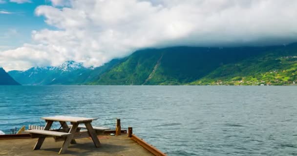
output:
<svg viewBox="0 0 297 156"><path fill-rule="evenodd" d="M223 65L192 85L291 85L297 83L297 44Z"/></svg>

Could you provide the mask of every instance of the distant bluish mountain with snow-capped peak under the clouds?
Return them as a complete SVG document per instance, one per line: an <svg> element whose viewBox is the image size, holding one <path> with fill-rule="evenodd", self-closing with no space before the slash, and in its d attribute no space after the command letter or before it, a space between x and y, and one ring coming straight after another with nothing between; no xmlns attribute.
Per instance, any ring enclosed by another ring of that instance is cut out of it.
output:
<svg viewBox="0 0 297 156"><path fill-rule="evenodd" d="M98 79L105 70L119 62L114 59L97 68L85 68L83 63L66 61L58 67L33 67L25 71L10 71L8 74L23 85L75 85Z"/></svg>

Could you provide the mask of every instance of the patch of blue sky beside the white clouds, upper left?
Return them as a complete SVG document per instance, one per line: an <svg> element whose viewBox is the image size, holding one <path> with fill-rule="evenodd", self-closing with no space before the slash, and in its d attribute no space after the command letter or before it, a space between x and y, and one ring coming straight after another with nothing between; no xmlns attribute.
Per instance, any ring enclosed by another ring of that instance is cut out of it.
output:
<svg viewBox="0 0 297 156"><path fill-rule="evenodd" d="M37 6L49 4L50 1L47 0L31 0L24 3L2 0L0 11L4 13L0 13L0 50L30 43L32 30L49 28L44 22L44 17L38 17L34 13Z"/></svg>

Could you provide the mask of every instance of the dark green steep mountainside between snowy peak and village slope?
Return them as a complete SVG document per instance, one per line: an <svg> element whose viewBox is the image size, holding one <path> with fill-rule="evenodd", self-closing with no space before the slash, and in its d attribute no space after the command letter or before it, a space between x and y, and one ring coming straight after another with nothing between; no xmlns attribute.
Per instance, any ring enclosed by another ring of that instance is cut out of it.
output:
<svg viewBox="0 0 297 156"><path fill-rule="evenodd" d="M274 47L171 47L133 53L89 84L178 85L204 78L217 68L259 56Z"/></svg>

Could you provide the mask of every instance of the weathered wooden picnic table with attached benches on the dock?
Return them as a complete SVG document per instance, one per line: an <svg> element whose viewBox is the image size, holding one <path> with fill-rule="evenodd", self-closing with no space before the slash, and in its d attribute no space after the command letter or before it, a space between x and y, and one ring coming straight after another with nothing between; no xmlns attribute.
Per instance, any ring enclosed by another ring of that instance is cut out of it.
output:
<svg viewBox="0 0 297 156"><path fill-rule="evenodd" d="M64 154L69 146L69 144L76 144L75 139L91 137L95 147L100 147L101 143L97 137L98 132L102 133L109 128L105 127L95 127L91 125L93 120L96 118L86 118L86 117L65 117L65 116L55 116L55 117L42 117L46 121L45 127L43 130L27 130L25 132L30 133L31 137L38 138L33 150L39 150L42 146L42 143L45 137L54 137L55 141L64 141L62 148L60 149L59 154ZM51 126L54 121L58 121L61 124L60 129L51 130ZM66 122L70 122L70 125L67 125ZM81 125L80 124L84 124ZM62 128L62 129L61 129ZM81 131L81 129L86 129Z"/></svg>

